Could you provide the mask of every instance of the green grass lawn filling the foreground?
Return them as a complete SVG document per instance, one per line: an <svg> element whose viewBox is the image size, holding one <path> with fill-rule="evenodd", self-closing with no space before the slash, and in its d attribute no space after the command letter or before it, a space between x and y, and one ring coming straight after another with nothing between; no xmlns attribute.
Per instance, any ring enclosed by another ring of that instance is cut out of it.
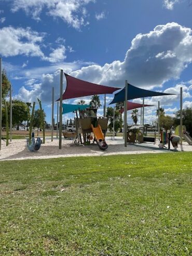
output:
<svg viewBox="0 0 192 256"><path fill-rule="evenodd" d="M191 255L192 153L0 162L0 255Z"/></svg>

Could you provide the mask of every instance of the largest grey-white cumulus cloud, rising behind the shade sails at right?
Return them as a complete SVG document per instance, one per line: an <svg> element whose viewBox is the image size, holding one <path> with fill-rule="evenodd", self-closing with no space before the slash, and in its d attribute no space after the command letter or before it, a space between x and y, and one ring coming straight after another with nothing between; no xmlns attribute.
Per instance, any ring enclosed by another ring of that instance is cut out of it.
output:
<svg viewBox="0 0 192 256"><path fill-rule="evenodd" d="M158 25L153 31L147 34L136 35L132 40L130 49L126 53L125 60L122 62L116 60L112 63L106 63L103 66L88 64L88 66L83 66L80 69L75 69L73 66L71 70L63 70L66 73L69 71L74 77L96 84L122 88L125 86L125 80L127 79L130 84L150 89L161 87L164 82L170 79L179 78L181 72L191 62L191 29L172 22L165 25ZM33 73L35 76L36 71ZM32 75L32 73L30 74ZM53 74L53 76L55 75ZM41 96L43 100L50 100L50 93L48 95L46 92L44 93L44 79L42 82ZM49 85L51 83L47 80L46 86L48 87ZM191 97L188 89L189 85L185 84L178 84L166 89L164 92L180 93L180 86L184 88L183 97ZM158 100L160 100L162 105L170 106L173 102L179 101L179 96L154 97L147 100L146 103L155 103L157 105Z"/></svg>

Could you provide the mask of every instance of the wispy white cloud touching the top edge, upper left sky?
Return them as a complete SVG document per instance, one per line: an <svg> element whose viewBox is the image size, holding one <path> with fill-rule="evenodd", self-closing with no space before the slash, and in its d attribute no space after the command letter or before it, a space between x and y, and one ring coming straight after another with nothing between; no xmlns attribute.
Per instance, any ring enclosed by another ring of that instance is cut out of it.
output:
<svg viewBox="0 0 192 256"><path fill-rule="evenodd" d="M79 29L80 26L87 24L85 6L94 0L10 0L10 2L12 2L12 12L22 9L27 15L32 15L33 19L39 21L40 14L46 9L47 15L61 18L73 28Z"/></svg>

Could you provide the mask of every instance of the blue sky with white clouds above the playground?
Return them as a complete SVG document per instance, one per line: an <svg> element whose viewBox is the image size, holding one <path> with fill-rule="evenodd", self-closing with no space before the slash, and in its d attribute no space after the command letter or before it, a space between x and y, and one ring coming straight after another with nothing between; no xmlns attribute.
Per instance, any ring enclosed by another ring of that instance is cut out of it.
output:
<svg viewBox="0 0 192 256"><path fill-rule="evenodd" d="M42 99L50 122L51 90L54 86L57 99L63 69L119 88L125 79L173 93L183 86L184 107L192 107L191 14L188 0L0 0L0 56L13 96ZM112 98L107 95L107 102ZM179 95L148 98L155 106L146 108L145 123L156 119L158 100L166 114L179 109Z"/></svg>

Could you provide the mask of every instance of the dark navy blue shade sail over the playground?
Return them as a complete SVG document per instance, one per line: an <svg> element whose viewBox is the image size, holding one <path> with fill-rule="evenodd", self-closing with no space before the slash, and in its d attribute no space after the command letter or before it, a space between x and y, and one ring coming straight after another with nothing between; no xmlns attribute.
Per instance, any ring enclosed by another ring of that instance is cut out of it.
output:
<svg viewBox="0 0 192 256"><path fill-rule="evenodd" d="M149 91L149 90L141 89L128 84L127 100L153 97L153 96L165 96L165 95L173 95L173 93ZM125 101L125 88L115 94L114 99L110 104L121 102L121 101Z"/></svg>

